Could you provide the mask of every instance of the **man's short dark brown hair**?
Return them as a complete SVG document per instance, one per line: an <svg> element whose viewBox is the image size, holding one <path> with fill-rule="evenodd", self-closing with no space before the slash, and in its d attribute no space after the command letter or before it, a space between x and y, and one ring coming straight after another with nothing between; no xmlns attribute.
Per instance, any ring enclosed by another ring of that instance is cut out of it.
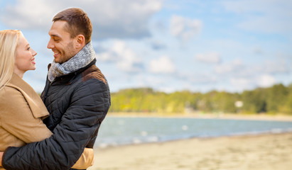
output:
<svg viewBox="0 0 292 170"><path fill-rule="evenodd" d="M85 44L90 42L92 35L92 23L87 13L81 8L67 8L64 11L57 13L53 22L66 21L65 30L70 33L71 38L75 38L77 35L85 36Z"/></svg>

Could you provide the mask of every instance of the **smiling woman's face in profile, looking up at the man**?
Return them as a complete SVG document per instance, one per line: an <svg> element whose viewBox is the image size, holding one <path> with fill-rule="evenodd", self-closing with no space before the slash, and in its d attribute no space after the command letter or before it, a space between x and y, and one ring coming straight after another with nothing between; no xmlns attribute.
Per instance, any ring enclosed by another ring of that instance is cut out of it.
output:
<svg viewBox="0 0 292 170"><path fill-rule="evenodd" d="M36 52L29 46L28 41L21 34L15 52L14 72L24 74L28 70L36 69Z"/></svg>

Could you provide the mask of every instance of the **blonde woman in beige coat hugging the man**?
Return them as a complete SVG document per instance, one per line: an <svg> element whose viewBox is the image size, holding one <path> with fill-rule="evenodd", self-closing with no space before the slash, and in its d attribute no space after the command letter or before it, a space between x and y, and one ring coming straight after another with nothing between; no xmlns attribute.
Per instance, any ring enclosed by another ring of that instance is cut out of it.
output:
<svg viewBox="0 0 292 170"><path fill-rule="evenodd" d="M20 30L0 31L1 152L52 135L42 121L49 115L43 101L22 79L26 71L36 69L36 54ZM72 169L87 169L92 161L93 149L85 148Z"/></svg>

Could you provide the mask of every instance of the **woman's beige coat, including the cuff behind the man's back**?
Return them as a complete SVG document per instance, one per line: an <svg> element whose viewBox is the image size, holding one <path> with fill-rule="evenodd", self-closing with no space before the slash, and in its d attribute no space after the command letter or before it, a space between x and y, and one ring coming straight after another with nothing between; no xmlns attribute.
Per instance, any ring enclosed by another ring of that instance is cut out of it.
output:
<svg viewBox="0 0 292 170"><path fill-rule="evenodd" d="M42 121L48 115L36 91L13 74L9 84L0 91L0 151L50 137L52 132ZM86 169L92 164L93 150L85 149L80 159L73 167Z"/></svg>

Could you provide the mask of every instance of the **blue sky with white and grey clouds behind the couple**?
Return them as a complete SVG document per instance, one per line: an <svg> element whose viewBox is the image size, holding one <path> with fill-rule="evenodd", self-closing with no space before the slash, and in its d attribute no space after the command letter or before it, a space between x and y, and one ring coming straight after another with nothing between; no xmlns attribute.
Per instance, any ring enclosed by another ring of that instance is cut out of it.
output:
<svg viewBox="0 0 292 170"><path fill-rule="evenodd" d="M36 70L23 77L37 92L53 61L51 20L70 7L92 21L96 65L112 92L292 84L291 0L0 0L0 30L21 30L38 52Z"/></svg>

